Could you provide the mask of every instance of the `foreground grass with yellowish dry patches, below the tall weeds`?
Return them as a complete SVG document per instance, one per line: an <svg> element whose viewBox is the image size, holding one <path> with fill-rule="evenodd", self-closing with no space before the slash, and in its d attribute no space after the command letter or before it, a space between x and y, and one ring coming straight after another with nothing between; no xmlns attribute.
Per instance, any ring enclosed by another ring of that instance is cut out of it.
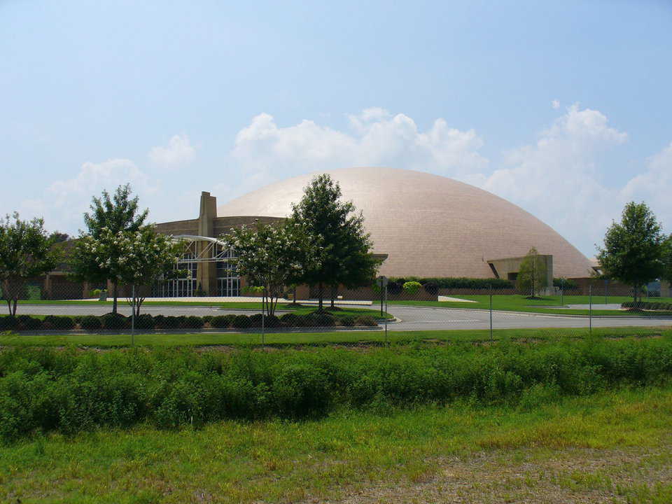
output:
<svg viewBox="0 0 672 504"><path fill-rule="evenodd" d="M0 445L7 503L669 503L672 387Z"/></svg>

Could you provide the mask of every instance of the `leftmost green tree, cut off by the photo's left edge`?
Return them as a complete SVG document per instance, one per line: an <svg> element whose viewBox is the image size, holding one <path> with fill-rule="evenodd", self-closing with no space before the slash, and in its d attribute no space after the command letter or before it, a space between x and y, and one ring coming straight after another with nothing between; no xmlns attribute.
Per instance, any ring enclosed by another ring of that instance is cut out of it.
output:
<svg viewBox="0 0 672 504"><path fill-rule="evenodd" d="M16 212L0 219L0 281L10 315L16 314L26 280L56 267L59 253L52 245L42 219L21 221Z"/></svg>

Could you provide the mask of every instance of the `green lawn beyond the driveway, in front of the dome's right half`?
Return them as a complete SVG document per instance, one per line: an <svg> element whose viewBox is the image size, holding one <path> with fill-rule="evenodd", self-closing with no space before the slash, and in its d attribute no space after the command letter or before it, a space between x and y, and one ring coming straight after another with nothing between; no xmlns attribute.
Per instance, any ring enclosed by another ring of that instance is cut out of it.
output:
<svg viewBox="0 0 672 504"><path fill-rule="evenodd" d="M460 299L475 301L475 302L452 302L452 301L390 301L389 305L406 304L411 306L430 306L430 307L444 307L444 308L461 308L461 309L489 309L490 298L489 295L456 295ZM621 304L622 302L632 301L632 297L626 296L608 296L606 298L607 304ZM653 302L672 302L672 297L652 297L650 301ZM567 304L589 304L588 296L573 295L563 296L562 304L560 296L547 296L538 300L528 300L522 295L493 295L492 309L503 311L526 311L540 314L560 314L560 315L587 315L587 309L566 309L554 308ZM592 314L594 316L608 315L608 316L622 316L628 315L627 311L620 310L605 310L600 309L600 304L605 304L604 296L593 296L592 302L594 304ZM640 315L672 315L670 311L656 311L643 312Z"/></svg>

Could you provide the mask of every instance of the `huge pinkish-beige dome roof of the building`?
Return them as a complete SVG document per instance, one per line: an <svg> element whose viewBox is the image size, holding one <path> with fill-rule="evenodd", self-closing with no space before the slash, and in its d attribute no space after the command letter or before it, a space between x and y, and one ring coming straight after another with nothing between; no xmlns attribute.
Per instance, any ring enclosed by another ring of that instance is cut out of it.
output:
<svg viewBox="0 0 672 504"><path fill-rule="evenodd" d="M587 276L590 262L548 225L491 193L446 177L391 168L327 172L344 200L363 211L388 276L493 276L487 260L552 254L554 276ZM219 216L285 217L315 174L255 190L217 209Z"/></svg>

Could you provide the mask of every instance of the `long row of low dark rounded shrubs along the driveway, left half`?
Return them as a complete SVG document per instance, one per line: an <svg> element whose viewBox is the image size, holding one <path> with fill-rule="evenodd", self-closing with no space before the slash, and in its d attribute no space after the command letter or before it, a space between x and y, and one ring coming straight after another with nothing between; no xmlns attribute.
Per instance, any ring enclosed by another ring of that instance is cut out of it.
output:
<svg viewBox="0 0 672 504"><path fill-rule="evenodd" d="M118 330L130 329L131 317L121 314L103 316L45 316L44 320L29 315L0 317L0 330ZM267 328L282 327L331 327L342 325L375 326L377 322L372 316L339 316L330 314L283 314L283 316L265 316L263 321ZM163 316L141 314L135 319L138 330L152 329L200 329L200 328L260 328L261 314L253 315L218 315L218 316Z"/></svg>

